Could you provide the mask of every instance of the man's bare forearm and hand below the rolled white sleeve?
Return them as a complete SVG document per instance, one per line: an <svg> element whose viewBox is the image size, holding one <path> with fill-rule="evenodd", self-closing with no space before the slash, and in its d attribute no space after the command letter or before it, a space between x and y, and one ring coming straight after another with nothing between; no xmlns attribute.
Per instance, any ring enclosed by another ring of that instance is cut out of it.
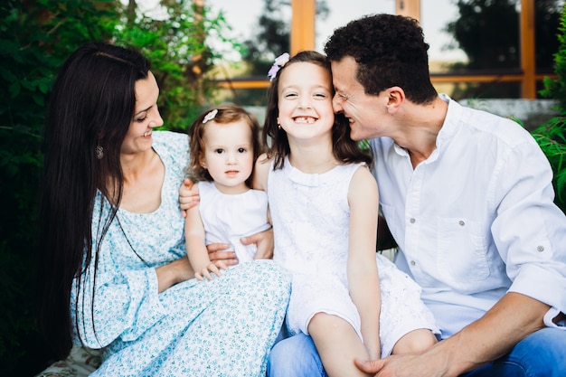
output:
<svg viewBox="0 0 566 377"><path fill-rule="evenodd" d="M544 327L550 306L520 293L505 294L484 316L420 354L355 362L376 377L452 377L505 355L524 337Z"/></svg>

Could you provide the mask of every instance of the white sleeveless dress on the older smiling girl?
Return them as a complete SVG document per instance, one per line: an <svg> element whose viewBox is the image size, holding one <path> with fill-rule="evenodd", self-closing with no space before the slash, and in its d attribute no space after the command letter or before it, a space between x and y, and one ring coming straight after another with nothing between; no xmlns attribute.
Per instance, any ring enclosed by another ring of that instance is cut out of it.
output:
<svg viewBox="0 0 566 377"><path fill-rule="evenodd" d="M338 165L325 174L305 174L286 159L282 169L269 171L273 259L293 273L286 318L291 335L308 335L311 318L324 312L343 318L362 338L360 316L350 297L346 276L350 220L347 194L359 168L365 167ZM439 329L420 300L420 287L379 253L376 262L382 294L380 337L385 357L402 335L419 328L435 333Z"/></svg>

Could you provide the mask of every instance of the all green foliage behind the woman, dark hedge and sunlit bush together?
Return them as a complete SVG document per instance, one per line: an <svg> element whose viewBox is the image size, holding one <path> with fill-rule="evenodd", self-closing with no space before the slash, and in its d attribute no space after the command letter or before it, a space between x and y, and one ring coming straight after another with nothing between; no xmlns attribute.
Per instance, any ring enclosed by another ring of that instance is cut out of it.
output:
<svg viewBox="0 0 566 377"><path fill-rule="evenodd" d="M204 35L231 42L222 39L228 27L222 15L212 17L192 4L163 0L169 18L154 20L114 0L0 2L0 375L33 375L47 362L33 318L33 252L52 80L84 42L140 47L162 90L165 127L186 128L212 90L203 73L219 52Z"/></svg>

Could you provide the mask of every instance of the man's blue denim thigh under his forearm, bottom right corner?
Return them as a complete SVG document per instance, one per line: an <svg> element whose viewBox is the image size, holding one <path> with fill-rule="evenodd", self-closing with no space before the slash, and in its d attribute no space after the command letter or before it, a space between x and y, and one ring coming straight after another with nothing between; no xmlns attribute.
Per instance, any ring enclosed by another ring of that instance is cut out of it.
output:
<svg viewBox="0 0 566 377"><path fill-rule="evenodd" d="M543 328L516 344L510 353L461 377L566 376L566 332Z"/></svg>

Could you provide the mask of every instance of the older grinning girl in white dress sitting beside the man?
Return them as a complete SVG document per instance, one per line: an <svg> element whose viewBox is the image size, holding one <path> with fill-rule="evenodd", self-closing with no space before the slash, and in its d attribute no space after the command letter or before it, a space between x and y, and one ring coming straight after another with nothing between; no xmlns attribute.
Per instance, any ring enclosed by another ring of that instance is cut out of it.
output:
<svg viewBox="0 0 566 377"><path fill-rule="evenodd" d="M317 52L287 58L270 71L263 136L271 147L254 174L254 187L269 197L273 259L293 273L287 330L312 336L329 376L361 376L356 357L423 351L437 328L420 287L376 254L372 158L334 114L329 62Z"/></svg>

